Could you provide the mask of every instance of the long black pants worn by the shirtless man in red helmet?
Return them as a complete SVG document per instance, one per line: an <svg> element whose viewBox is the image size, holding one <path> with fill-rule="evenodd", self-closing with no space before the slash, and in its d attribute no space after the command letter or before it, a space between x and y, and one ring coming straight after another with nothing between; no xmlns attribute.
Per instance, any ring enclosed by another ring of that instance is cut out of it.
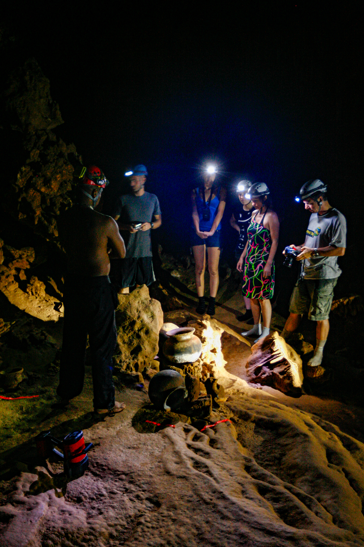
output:
<svg viewBox="0 0 364 547"><path fill-rule="evenodd" d="M85 378L87 334L92 359L93 406L115 405L112 355L116 347L117 295L108 276L67 280L64 327L57 393L64 399L79 395Z"/></svg>

